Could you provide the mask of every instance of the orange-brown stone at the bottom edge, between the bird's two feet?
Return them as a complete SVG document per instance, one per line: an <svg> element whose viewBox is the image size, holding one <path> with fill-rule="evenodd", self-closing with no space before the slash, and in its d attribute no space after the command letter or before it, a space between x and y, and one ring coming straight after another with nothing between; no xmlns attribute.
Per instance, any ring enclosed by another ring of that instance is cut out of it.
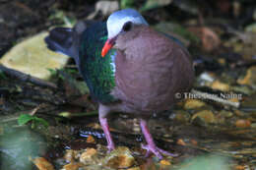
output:
<svg viewBox="0 0 256 170"><path fill-rule="evenodd" d="M128 147L120 146L105 157L105 164L111 168L128 168L133 166L135 159Z"/></svg>

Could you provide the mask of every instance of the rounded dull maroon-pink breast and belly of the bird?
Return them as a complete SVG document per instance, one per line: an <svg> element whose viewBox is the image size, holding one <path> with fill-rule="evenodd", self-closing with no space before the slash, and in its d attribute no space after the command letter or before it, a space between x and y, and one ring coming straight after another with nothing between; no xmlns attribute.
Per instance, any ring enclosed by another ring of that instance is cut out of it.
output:
<svg viewBox="0 0 256 170"><path fill-rule="evenodd" d="M194 71L189 53L159 32L138 27L116 40L116 88L127 110L159 112L190 89ZM128 111L129 112L129 111Z"/></svg>

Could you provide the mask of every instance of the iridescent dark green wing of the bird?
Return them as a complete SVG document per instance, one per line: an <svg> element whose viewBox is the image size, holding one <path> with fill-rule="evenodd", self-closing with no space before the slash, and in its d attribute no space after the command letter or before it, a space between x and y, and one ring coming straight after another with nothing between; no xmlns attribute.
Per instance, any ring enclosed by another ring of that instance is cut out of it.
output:
<svg viewBox="0 0 256 170"><path fill-rule="evenodd" d="M79 54L80 72L93 98L101 103L117 100L110 94L115 86L115 50L110 50L105 57L101 57L101 49L106 39L106 24L96 23L84 31Z"/></svg>

